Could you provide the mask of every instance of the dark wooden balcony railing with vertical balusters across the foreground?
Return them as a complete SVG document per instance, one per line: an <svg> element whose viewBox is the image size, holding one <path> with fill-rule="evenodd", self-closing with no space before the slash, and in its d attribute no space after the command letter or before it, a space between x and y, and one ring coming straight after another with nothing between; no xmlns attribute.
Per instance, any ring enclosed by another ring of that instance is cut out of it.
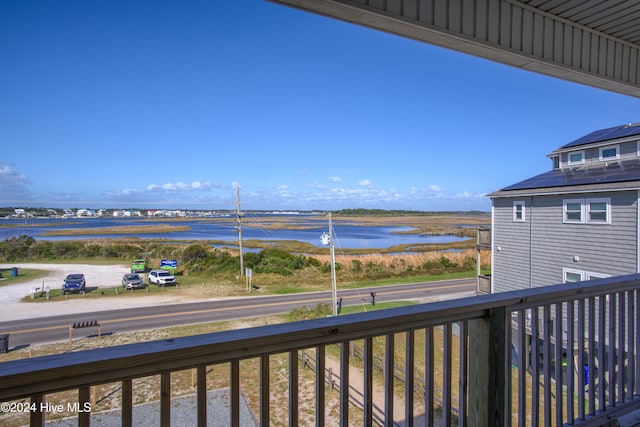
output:
<svg viewBox="0 0 640 427"><path fill-rule="evenodd" d="M168 426L173 380L192 370L193 425L212 421L212 376L231 426L603 425L640 407L639 290L632 275L10 361L0 402L41 426L72 390L84 426L99 416L83 411L92 391L115 384L114 416L131 426L152 377Z"/></svg>

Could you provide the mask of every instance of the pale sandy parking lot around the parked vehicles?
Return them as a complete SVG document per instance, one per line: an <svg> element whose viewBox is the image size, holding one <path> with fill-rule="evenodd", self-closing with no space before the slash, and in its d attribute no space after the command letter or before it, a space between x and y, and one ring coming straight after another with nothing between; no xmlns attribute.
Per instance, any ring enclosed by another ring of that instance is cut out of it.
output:
<svg viewBox="0 0 640 427"><path fill-rule="evenodd" d="M120 308L144 307L150 304L185 302L184 297L168 295L136 296L136 298L105 298L84 300L73 298L64 301L29 303L21 302L29 296L32 288L60 289L67 274L84 273L87 287L113 288L122 286L122 276L130 271L129 266L103 266L88 264L0 264L0 269L17 267L47 270L49 274L37 281L15 285L2 285L0 279L0 321L20 320L58 314L86 313ZM5 273L6 276L6 273Z"/></svg>

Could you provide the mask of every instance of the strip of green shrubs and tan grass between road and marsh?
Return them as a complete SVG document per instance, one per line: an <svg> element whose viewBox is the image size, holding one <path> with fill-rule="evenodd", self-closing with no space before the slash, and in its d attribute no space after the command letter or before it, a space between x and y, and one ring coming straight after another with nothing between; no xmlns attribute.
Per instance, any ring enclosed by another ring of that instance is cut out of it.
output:
<svg viewBox="0 0 640 427"><path fill-rule="evenodd" d="M139 258L146 258L148 268L158 268L162 259L177 260L180 285L238 285L240 257L237 251L213 248L201 242L184 245L142 239L36 241L24 235L0 241L0 263L4 264L82 260L92 264L130 265ZM244 267L253 271L252 286L266 293L323 289L331 280L330 258L326 253L303 255L265 248L246 253ZM488 263L483 267L486 269ZM433 280L434 277L470 277L475 274L475 268L474 250L406 255L342 254L336 258L337 280L343 288Z"/></svg>

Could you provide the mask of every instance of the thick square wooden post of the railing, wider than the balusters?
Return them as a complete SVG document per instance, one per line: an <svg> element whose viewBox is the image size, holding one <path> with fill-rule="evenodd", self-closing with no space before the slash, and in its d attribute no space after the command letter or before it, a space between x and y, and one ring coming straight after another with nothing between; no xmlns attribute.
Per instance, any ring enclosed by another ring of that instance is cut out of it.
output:
<svg viewBox="0 0 640 427"><path fill-rule="evenodd" d="M487 310L469 322L469 422L476 427L505 426L506 310Z"/></svg>

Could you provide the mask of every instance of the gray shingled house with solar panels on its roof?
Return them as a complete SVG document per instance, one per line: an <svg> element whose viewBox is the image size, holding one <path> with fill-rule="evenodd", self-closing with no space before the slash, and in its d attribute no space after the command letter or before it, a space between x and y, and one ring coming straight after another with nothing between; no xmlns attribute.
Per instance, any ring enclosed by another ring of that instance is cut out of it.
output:
<svg viewBox="0 0 640 427"><path fill-rule="evenodd" d="M491 193L491 291L640 272L640 123L549 154L552 169Z"/></svg>

